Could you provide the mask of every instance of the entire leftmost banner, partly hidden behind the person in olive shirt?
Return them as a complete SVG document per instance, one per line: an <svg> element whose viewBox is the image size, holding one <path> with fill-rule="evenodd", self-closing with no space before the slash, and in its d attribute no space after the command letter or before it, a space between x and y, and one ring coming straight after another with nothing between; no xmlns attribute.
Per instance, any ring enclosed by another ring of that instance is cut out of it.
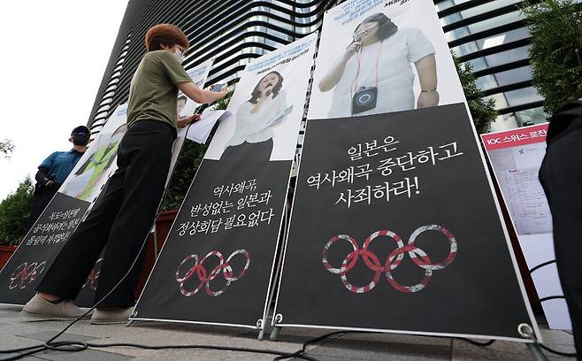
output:
<svg viewBox="0 0 582 361"><path fill-rule="evenodd" d="M126 132L126 105L120 105L80 157L2 272L0 303L24 304L34 296L65 242L75 232L115 171L119 142Z"/></svg>

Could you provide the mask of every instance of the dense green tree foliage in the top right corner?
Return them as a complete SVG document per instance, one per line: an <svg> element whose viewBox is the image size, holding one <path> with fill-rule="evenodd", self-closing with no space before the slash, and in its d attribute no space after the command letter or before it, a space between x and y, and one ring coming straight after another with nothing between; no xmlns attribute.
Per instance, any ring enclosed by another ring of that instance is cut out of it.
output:
<svg viewBox="0 0 582 361"><path fill-rule="evenodd" d="M537 2L536 2L537 3ZM532 83L545 98L551 115L563 104L582 96L582 3L572 0L525 2L522 11L532 34Z"/></svg>

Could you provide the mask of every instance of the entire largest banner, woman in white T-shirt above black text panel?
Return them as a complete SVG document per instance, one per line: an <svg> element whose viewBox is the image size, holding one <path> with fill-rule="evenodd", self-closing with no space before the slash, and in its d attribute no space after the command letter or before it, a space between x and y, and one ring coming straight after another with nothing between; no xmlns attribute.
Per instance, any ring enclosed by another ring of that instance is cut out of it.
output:
<svg viewBox="0 0 582 361"><path fill-rule="evenodd" d="M274 326L539 336L432 1L325 14Z"/></svg>

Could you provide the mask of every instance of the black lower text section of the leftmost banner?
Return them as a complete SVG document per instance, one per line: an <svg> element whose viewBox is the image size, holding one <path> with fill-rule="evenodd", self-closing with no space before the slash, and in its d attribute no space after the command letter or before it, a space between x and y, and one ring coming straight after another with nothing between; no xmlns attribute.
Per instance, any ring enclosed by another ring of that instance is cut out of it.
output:
<svg viewBox="0 0 582 361"><path fill-rule="evenodd" d="M88 207L88 202L57 192L0 272L0 303L24 304L34 296L44 271L79 226Z"/></svg>

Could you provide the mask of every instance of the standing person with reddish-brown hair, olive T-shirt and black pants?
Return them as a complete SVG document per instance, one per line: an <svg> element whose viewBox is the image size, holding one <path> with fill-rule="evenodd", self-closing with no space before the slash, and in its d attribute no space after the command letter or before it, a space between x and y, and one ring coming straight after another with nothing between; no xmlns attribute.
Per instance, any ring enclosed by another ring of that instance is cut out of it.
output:
<svg viewBox="0 0 582 361"><path fill-rule="evenodd" d="M158 24L145 36L146 50L130 84L127 131L119 142L118 170L87 219L58 254L25 305L22 315L37 319L76 319L71 300L79 294L105 245L91 323L125 322L134 306L144 244L162 200L178 127L198 119L177 117L178 93L199 104L226 96L196 87L181 62L188 37L179 27ZM139 257L138 257L139 255Z"/></svg>

